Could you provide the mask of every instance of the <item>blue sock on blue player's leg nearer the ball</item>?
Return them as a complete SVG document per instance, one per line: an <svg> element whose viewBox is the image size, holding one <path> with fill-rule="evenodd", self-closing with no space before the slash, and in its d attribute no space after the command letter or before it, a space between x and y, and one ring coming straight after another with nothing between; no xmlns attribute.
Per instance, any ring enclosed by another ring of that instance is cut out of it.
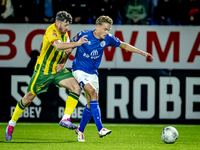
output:
<svg viewBox="0 0 200 150"><path fill-rule="evenodd" d="M103 125L101 122L101 110L98 101L90 101L90 109L97 129L100 131L103 128Z"/></svg>

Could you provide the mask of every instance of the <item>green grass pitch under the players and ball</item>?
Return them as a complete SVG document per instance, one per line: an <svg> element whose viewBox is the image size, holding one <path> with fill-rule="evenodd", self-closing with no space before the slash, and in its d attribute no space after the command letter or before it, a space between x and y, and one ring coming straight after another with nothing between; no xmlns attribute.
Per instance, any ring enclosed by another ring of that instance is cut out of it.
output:
<svg viewBox="0 0 200 150"><path fill-rule="evenodd" d="M75 123L78 124L78 123ZM0 123L0 150L198 150L200 125L171 125L178 132L174 144L161 140L164 124L103 124L112 133L99 138L94 123L85 129L85 142L77 142L74 130L58 123L17 123L11 141L5 140L7 123Z"/></svg>

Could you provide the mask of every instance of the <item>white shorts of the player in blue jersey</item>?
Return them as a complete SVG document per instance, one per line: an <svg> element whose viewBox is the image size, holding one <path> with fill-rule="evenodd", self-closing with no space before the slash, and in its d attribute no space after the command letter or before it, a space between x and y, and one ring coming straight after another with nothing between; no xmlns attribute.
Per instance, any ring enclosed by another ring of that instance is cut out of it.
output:
<svg viewBox="0 0 200 150"><path fill-rule="evenodd" d="M84 86L89 83L99 93L99 78L96 74L88 74L81 70L72 71L72 74L83 90Z"/></svg>

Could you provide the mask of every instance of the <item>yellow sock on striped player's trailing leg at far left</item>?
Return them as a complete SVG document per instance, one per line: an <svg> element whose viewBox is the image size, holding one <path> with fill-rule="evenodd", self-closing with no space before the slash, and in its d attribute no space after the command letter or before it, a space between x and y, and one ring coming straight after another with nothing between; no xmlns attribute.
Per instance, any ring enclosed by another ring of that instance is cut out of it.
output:
<svg viewBox="0 0 200 150"><path fill-rule="evenodd" d="M23 105L22 100L20 100L17 103L17 106L15 108L15 111L14 111L11 119L13 121L17 122L17 120L19 119L19 117L21 116L21 114L23 113L23 111L24 111L25 108L26 107Z"/></svg>

